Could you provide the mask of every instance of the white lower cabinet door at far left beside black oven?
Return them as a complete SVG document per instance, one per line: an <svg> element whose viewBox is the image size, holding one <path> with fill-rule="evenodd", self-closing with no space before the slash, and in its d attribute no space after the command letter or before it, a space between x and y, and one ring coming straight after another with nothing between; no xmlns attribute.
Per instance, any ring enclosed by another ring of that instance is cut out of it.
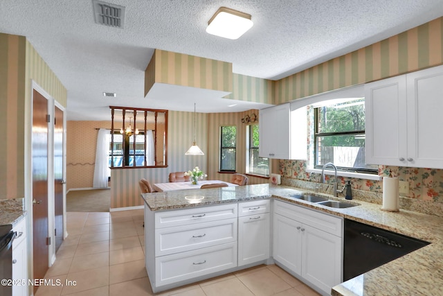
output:
<svg viewBox="0 0 443 296"><path fill-rule="evenodd" d="M17 284L12 286L12 295L28 295L28 254L26 239L12 247L12 279Z"/></svg>

